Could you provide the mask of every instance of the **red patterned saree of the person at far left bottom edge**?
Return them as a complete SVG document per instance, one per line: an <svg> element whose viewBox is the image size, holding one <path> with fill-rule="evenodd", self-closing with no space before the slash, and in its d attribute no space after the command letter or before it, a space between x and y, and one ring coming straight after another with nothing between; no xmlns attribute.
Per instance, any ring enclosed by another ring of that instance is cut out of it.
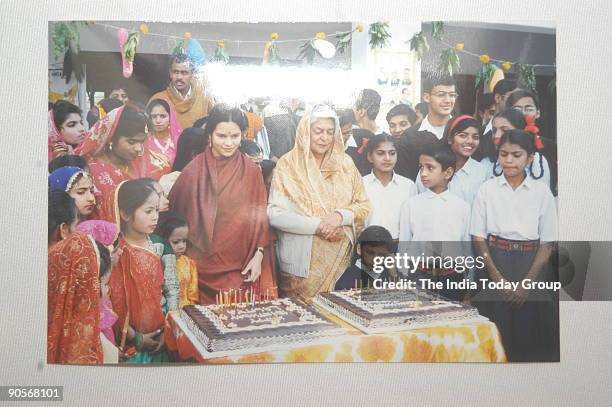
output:
<svg viewBox="0 0 612 407"><path fill-rule="evenodd" d="M49 250L47 363L102 363L97 247L81 233Z"/></svg>

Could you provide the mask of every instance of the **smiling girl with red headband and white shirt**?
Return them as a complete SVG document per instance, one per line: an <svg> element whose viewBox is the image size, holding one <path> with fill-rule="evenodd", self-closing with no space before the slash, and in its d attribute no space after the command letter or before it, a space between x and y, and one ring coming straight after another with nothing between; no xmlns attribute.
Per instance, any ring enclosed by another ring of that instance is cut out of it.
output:
<svg viewBox="0 0 612 407"><path fill-rule="evenodd" d="M482 129L471 116L462 115L446 124L441 142L448 144L455 154L455 174L448 184L453 194L472 204L478 188L488 179L487 168L472 158L472 154L480 144ZM424 192L427 188L417 176L417 191Z"/></svg>

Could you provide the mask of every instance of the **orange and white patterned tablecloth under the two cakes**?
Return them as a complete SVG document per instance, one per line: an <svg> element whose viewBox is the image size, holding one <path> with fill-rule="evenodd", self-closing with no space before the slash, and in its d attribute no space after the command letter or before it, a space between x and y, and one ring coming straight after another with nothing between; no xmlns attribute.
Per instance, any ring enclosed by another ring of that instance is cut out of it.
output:
<svg viewBox="0 0 612 407"><path fill-rule="evenodd" d="M285 362L505 362L506 355L495 324L489 321L366 335L325 313L347 329L330 343L295 345L283 350L207 357L178 313L166 319L166 346L182 360L200 363Z"/></svg>

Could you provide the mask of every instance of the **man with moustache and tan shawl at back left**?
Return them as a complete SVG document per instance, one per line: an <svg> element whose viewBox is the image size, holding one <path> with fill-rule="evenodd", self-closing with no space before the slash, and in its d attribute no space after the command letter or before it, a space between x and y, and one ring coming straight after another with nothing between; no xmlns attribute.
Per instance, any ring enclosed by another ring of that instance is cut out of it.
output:
<svg viewBox="0 0 612 407"><path fill-rule="evenodd" d="M163 99L176 111L178 121L184 129L208 116L214 101L207 96L202 83L193 75L194 65L186 54L175 54L170 61L170 84L153 96L151 100Z"/></svg>

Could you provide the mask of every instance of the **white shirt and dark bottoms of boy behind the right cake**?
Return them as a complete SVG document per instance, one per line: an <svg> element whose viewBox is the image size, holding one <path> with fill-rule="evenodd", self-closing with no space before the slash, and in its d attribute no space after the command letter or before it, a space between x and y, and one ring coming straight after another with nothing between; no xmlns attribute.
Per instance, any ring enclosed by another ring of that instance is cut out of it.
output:
<svg viewBox="0 0 612 407"><path fill-rule="evenodd" d="M427 189L410 198L400 211L400 253L412 256L439 255L442 257L471 255L470 206L449 190L436 194ZM431 243L438 242L438 243ZM433 249L433 252L432 252ZM401 271L401 270L400 270ZM439 276L425 267L412 276L413 279L428 278L444 282L438 294L461 301L464 290L447 289L445 280L461 281L468 273L447 269Z"/></svg>

